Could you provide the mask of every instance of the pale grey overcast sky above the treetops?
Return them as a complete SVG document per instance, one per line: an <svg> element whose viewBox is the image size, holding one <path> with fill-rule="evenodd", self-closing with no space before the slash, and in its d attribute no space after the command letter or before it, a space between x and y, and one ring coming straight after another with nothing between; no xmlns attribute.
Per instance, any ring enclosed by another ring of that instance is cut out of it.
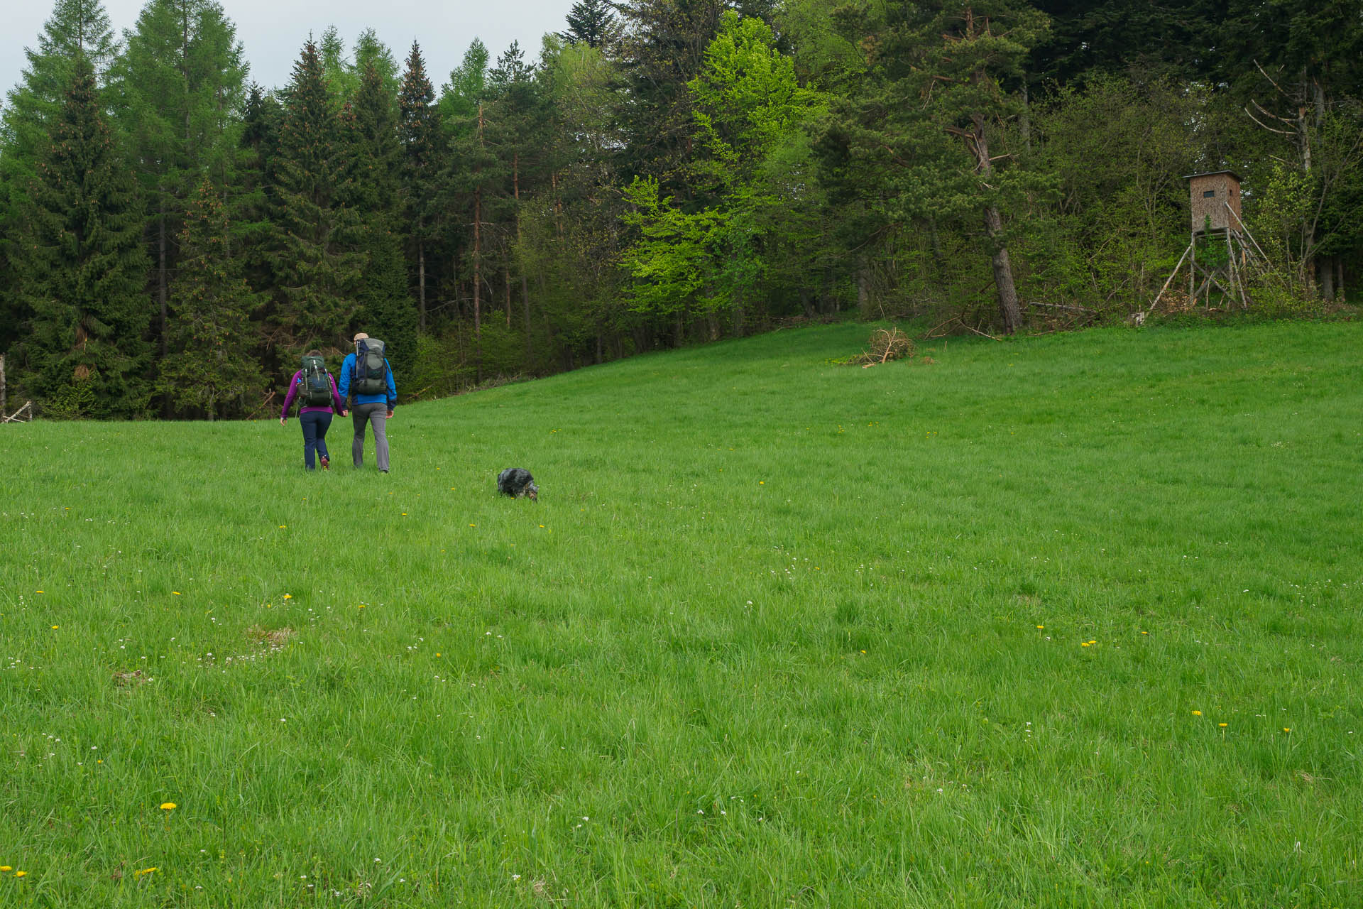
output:
<svg viewBox="0 0 1363 909"><path fill-rule="evenodd" d="M540 56L540 38L562 31L572 0L219 0L237 26L237 41L251 63L251 79L266 89L282 87L311 31L322 37L334 25L348 50L364 29L373 29L388 45L398 68L421 44L427 75L435 86L450 80L474 37L488 45L493 61L512 41L521 42L527 61ZM0 89L8 93L27 65L25 48L37 49L42 23L52 16L50 0L5 0L0 27ZM114 33L138 22L144 0L104 0Z"/></svg>

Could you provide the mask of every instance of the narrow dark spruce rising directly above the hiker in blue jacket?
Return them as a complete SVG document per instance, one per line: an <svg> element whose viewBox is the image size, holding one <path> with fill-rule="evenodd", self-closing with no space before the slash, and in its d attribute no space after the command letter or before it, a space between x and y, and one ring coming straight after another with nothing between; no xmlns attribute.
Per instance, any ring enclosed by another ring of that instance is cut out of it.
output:
<svg viewBox="0 0 1363 909"><path fill-rule="evenodd" d="M354 106L353 204L364 218L365 264L360 277L360 318L365 331L387 342L394 371L416 354L417 311L408 296L399 217L399 161L393 97L373 61L365 64Z"/></svg>

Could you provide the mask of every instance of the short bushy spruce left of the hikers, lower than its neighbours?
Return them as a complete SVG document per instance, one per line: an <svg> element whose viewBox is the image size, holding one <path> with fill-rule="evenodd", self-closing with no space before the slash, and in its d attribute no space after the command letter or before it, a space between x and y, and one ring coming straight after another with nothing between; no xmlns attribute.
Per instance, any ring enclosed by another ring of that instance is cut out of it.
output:
<svg viewBox="0 0 1363 909"><path fill-rule="evenodd" d="M180 233L170 285L169 354L158 388L180 410L213 420L239 416L260 399L264 375L252 356L249 319L260 305L229 249L226 211L209 180L195 189Z"/></svg>

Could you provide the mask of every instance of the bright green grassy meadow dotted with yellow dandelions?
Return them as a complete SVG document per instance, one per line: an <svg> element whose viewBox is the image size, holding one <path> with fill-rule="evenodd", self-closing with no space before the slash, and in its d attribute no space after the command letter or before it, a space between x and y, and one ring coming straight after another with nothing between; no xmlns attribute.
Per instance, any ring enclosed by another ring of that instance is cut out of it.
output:
<svg viewBox="0 0 1363 909"><path fill-rule="evenodd" d="M1363 328L868 333L0 428L0 905L1363 905Z"/></svg>

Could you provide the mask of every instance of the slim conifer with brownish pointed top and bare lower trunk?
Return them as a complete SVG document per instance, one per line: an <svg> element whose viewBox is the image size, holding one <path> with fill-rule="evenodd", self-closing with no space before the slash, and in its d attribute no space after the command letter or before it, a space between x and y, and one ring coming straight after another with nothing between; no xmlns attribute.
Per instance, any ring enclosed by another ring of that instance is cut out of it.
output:
<svg viewBox="0 0 1363 909"><path fill-rule="evenodd" d="M402 74L402 91L398 95L398 140L402 147L402 199L406 206L406 234L410 255L417 275L417 328L427 327L427 251L435 238L432 226L436 218L432 213L435 177L439 173L438 151L440 121L435 91L425 75L425 61L421 48L412 42L408 67Z"/></svg>

